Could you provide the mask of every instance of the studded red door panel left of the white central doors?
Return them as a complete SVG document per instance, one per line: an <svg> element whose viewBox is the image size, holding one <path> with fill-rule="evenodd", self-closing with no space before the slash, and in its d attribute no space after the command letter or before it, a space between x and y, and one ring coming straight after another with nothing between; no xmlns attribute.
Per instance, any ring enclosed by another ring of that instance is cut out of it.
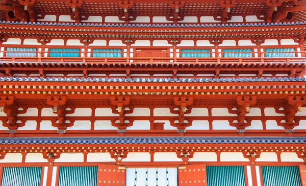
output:
<svg viewBox="0 0 306 186"><path fill-rule="evenodd" d="M125 186L125 167L114 165L98 166L98 186Z"/></svg>

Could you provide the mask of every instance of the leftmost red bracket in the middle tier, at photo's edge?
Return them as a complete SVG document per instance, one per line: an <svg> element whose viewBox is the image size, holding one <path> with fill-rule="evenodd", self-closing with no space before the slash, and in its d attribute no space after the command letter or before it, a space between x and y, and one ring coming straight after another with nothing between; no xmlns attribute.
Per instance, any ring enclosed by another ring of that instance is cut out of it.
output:
<svg viewBox="0 0 306 186"><path fill-rule="evenodd" d="M3 126L9 130L17 130L18 127L25 125L27 120L21 120L17 123L17 115L27 113L28 107L23 106L22 110L18 110L19 106L15 102L14 96L0 96L0 112L7 114L7 120L3 121Z"/></svg>

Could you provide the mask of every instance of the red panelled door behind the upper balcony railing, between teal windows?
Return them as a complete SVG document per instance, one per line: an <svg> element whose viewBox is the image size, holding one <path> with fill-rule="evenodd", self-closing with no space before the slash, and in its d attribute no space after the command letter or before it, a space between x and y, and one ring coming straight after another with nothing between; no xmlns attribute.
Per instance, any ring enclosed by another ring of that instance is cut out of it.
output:
<svg viewBox="0 0 306 186"><path fill-rule="evenodd" d="M163 59L169 57L167 49L136 49L135 57L139 58L135 61L168 61L168 59Z"/></svg>

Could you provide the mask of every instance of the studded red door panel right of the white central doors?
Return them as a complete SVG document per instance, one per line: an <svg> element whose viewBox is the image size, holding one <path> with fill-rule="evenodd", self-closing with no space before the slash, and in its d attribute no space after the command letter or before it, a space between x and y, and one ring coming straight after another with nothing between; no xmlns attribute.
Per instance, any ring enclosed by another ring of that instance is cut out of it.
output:
<svg viewBox="0 0 306 186"><path fill-rule="evenodd" d="M179 167L179 186L206 185L206 165L186 165Z"/></svg>

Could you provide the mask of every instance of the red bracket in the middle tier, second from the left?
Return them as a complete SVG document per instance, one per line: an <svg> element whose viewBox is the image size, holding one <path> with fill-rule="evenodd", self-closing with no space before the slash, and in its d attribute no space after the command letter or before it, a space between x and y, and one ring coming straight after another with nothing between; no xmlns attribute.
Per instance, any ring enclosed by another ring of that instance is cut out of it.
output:
<svg viewBox="0 0 306 186"><path fill-rule="evenodd" d="M58 128L59 133L65 133L67 127L73 126L74 122L74 120L70 120L70 123L66 123L66 114L74 113L75 107L70 106L70 110L67 110L66 96L47 96L46 102L53 106L53 113L58 115L58 118L52 121L53 126Z"/></svg>

